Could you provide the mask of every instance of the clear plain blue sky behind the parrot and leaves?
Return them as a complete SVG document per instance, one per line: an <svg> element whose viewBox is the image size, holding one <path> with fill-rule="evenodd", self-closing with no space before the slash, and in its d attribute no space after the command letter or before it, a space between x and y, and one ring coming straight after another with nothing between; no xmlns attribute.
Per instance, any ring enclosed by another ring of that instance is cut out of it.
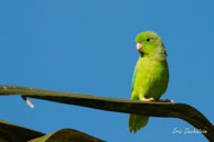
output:
<svg viewBox="0 0 214 142"><path fill-rule="evenodd" d="M214 123L214 1L1 0L1 85L130 98L135 37L154 31L165 44L170 83L162 98L189 103ZM136 134L128 114L20 97L0 98L0 119L50 133L71 128L109 142L202 142L180 119L151 118Z"/></svg>

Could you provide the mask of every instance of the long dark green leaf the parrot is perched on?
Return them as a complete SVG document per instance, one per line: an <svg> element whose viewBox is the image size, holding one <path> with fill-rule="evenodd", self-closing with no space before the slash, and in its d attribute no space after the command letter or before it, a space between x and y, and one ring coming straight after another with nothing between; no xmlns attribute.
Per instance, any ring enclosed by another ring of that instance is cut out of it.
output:
<svg viewBox="0 0 214 142"><path fill-rule="evenodd" d="M191 123L199 130L206 131L206 133L203 133L206 139L214 141L214 125L199 110L185 103L142 102L137 100L68 94L18 86L0 86L0 95L22 95L31 98L108 111L150 117L179 118Z"/></svg>

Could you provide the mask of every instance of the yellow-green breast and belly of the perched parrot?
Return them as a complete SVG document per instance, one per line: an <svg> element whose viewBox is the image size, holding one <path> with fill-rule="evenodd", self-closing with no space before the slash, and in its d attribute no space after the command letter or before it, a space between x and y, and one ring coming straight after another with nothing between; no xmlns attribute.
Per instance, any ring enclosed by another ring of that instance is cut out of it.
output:
<svg viewBox="0 0 214 142"><path fill-rule="evenodd" d="M169 69L167 59L140 57L136 65L131 99L141 100L154 98L156 100L167 90Z"/></svg>

